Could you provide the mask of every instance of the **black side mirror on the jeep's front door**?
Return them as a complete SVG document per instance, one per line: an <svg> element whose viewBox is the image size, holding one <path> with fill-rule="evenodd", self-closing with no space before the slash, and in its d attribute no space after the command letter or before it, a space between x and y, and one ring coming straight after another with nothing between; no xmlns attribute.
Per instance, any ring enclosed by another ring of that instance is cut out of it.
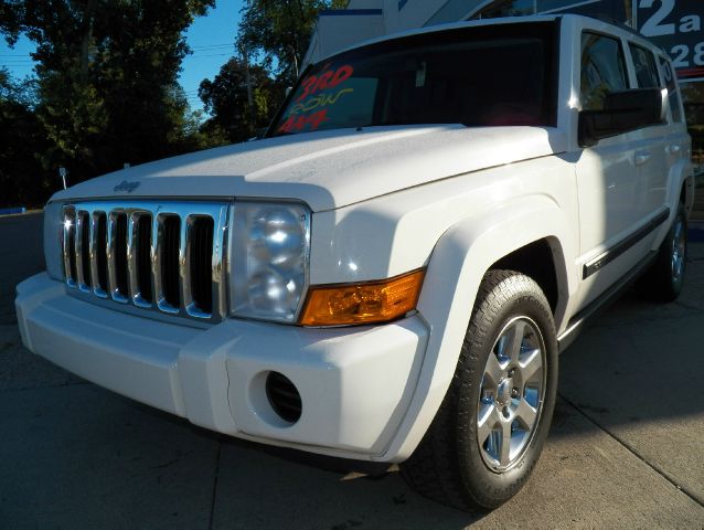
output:
<svg viewBox="0 0 704 530"><path fill-rule="evenodd" d="M579 113L579 146L595 146L601 138L621 135L665 121L661 88L637 88L614 92L606 96L604 110Z"/></svg>

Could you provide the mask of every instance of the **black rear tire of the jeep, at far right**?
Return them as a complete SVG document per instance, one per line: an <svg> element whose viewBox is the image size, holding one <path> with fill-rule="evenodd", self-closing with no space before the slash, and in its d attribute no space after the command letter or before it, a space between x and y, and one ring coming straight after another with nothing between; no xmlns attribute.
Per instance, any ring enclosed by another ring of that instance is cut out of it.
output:
<svg viewBox="0 0 704 530"><path fill-rule="evenodd" d="M640 290L655 301L673 301L682 292L686 269L687 220L684 205L678 213L660 245L652 267L640 280Z"/></svg>

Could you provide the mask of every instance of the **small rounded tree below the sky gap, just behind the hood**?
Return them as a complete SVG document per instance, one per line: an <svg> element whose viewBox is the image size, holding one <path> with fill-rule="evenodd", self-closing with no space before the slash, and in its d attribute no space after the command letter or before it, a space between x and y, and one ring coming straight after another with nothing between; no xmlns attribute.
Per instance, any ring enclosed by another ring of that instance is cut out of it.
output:
<svg viewBox="0 0 704 530"><path fill-rule="evenodd" d="M263 66L233 57L213 81L203 80L199 88L205 110L213 116L205 130L220 132L231 142L252 138L269 124L284 92Z"/></svg>

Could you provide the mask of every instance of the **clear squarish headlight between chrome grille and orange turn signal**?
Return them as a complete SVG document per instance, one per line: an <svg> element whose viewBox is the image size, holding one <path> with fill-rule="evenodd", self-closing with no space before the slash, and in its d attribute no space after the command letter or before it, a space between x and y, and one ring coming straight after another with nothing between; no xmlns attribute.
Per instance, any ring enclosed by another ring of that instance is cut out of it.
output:
<svg viewBox="0 0 704 530"><path fill-rule="evenodd" d="M308 286L310 211L302 204L236 202L232 224L232 314L296 321Z"/></svg>

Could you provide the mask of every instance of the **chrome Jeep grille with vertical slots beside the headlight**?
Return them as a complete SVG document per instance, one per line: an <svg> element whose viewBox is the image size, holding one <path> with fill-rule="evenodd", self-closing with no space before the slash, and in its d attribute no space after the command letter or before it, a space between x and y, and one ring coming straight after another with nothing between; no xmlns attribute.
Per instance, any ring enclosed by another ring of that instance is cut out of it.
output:
<svg viewBox="0 0 704 530"><path fill-rule="evenodd" d="M152 315L225 315L228 204L77 202L63 208L68 293Z"/></svg>

